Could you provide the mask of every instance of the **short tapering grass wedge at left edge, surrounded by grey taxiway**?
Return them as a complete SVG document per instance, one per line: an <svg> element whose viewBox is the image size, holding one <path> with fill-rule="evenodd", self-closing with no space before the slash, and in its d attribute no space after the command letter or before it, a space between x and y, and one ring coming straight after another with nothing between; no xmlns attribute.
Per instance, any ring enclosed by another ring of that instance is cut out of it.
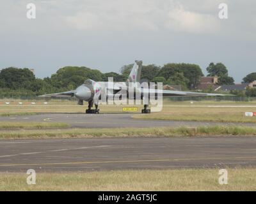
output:
<svg viewBox="0 0 256 204"><path fill-rule="evenodd" d="M68 128L65 122L0 122L0 129L12 128Z"/></svg>

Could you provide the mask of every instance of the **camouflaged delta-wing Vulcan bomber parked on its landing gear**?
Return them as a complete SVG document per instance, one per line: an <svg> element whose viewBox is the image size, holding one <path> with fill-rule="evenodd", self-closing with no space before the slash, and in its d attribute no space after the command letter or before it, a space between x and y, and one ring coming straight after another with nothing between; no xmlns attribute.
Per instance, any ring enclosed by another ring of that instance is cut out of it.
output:
<svg viewBox="0 0 256 204"><path fill-rule="evenodd" d="M139 96L143 99L145 96L154 93L155 95L161 93L161 97L173 97L173 96L227 96L225 94L210 94L210 93L202 93L202 92L187 92L187 91L170 91L170 90L159 90L141 87L140 79L141 79L141 69L142 69L142 61L135 61L134 66L127 78L126 82L115 82L113 86L113 82L95 82L91 79L87 79L84 81L84 84L77 87L75 90L59 92L55 94L46 94L40 97L76 97L77 104L83 105L84 101L88 102L88 109L86 109L86 113L99 113L99 101L102 98L105 98L108 101L109 98L114 98L118 92L125 86L125 92L127 94L127 98L135 99L136 96ZM131 86L132 89L131 89ZM111 89L109 89L111 87ZM156 95L157 97L157 95ZM144 100L143 100L144 101ZM95 104L95 109L93 108L93 103ZM141 110L141 113L150 113L150 109L148 109L148 103L144 103L144 108Z"/></svg>

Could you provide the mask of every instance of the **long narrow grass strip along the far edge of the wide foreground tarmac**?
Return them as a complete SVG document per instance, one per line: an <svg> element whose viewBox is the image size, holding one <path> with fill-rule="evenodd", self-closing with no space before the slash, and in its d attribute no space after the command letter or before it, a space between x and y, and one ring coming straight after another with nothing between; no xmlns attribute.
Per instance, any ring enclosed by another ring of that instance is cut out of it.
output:
<svg viewBox="0 0 256 204"><path fill-rule="evenodd" d="M131 136L256 136L255 127L202 126L198 128L90 128L90 129L20 129L0 131L1 139L17 138L93 138Z"/></svg>

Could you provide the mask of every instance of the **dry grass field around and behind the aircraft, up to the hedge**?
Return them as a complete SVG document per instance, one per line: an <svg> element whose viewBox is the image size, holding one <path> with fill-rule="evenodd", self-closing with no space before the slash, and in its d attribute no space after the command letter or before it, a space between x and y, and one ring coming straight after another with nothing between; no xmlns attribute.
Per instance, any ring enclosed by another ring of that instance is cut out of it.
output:
<svg viewBox="0 0 256 204"><path fill-rule="evenodd" d="M159 120L194 120L212 122L256 122L256 117L245 117L244 112L256 112L256 101L252 102L232 102L232 101L180 101L173 102L164 99L163 110L161 112L134 115L136 119L159 119ZM142 106L138 107L138 112ZM122 107L116 105L101 105L101 113L122 113ZM84 113L86 105L76 105L76 101L58 101L31 105L0 105L0 116L12 115L33 115L36 113Z"/></svg>

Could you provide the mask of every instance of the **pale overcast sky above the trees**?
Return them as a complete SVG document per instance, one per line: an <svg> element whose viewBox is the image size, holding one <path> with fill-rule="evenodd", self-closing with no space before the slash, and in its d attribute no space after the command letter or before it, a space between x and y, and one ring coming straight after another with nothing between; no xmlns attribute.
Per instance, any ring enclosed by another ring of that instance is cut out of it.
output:
<svg viewBox="0 0 256 204"><path fill-rule="evenodd" d="M28 3L36 19L26 17ZM220 3L228 19L218 17ZM256 71L255 0L1 0L0 68L63 66L116 71L136 59L223 62L236 82Z"/></svg>

